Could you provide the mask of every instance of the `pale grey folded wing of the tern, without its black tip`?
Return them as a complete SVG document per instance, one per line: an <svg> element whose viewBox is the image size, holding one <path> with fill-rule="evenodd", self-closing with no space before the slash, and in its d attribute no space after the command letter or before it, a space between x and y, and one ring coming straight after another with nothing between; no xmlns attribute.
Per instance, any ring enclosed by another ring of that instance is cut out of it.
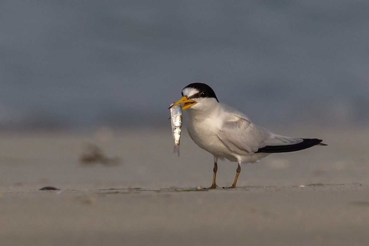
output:
<svg viewBox="0 0 369 246"><path fill-rule="evenodd" d="M228 112L218 137L231 150L239 155L257 152L265 146L294 145L303 142L301 138L291 138L273 134L265 128L258 127L247 115L223 104Z"/></svg>

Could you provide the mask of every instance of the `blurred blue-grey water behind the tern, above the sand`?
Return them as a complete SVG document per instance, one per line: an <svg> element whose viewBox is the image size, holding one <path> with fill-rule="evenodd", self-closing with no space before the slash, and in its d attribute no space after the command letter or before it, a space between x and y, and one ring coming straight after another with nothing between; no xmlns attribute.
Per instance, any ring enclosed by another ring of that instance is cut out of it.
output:
<svg viewBox="0 0 369 246"><path fill-rule="evenodd" d="M265 124L369 122L369 2L0 3L1 129L152 124L192 82Z"/></svg>

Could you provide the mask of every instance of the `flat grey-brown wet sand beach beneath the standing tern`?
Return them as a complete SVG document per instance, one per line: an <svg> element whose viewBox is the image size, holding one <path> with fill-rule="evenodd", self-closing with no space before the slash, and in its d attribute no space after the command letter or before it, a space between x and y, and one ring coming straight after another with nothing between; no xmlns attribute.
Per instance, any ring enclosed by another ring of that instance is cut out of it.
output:
<svg viewBox="0 0 369 246"><path fill-rule="evenodd" d="M186 133L174 159L170 131L2 134L1 245L368 245L368 132L337 132L242 166L232 190L196 189L213 158ZM120 163L81 163L86 143ZM237 164L218 166L229 186Z"/></svg>

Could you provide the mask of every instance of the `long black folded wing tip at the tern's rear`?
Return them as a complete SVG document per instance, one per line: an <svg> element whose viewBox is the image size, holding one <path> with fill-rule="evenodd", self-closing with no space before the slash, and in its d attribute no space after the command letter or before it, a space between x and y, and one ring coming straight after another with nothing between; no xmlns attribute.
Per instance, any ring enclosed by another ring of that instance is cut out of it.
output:
<svg viewBox="0 0 369 246"><path fill-rule="evenodd" d="M307 149L315 145L326 145L321 143L322 139L317 138L301 138L303 139L300 143L295 143L292 145L277 145L277 146L265 146L258 149L255 153L283 153L283 152L293 152L297 150Z"/></svg>

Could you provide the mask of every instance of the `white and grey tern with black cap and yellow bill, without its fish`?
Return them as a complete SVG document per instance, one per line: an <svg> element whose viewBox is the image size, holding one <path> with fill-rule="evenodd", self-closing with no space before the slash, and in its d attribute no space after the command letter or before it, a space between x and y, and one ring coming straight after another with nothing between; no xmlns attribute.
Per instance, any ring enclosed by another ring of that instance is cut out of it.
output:
<svg viewBox="0 0 369 246"><path fill-rule="evenodd" d="M210 86L192 83L182 90L182 98L174 103L188 109L187 131L192 140L214 156L213 184L218 170L218 158L238 162L237 173L232 186L235 188L241 163L259 162L271 153L292 152L326 145L317 138L291 138L273 134L255 125L251 118L242 112L218 101Z"/></svg>

